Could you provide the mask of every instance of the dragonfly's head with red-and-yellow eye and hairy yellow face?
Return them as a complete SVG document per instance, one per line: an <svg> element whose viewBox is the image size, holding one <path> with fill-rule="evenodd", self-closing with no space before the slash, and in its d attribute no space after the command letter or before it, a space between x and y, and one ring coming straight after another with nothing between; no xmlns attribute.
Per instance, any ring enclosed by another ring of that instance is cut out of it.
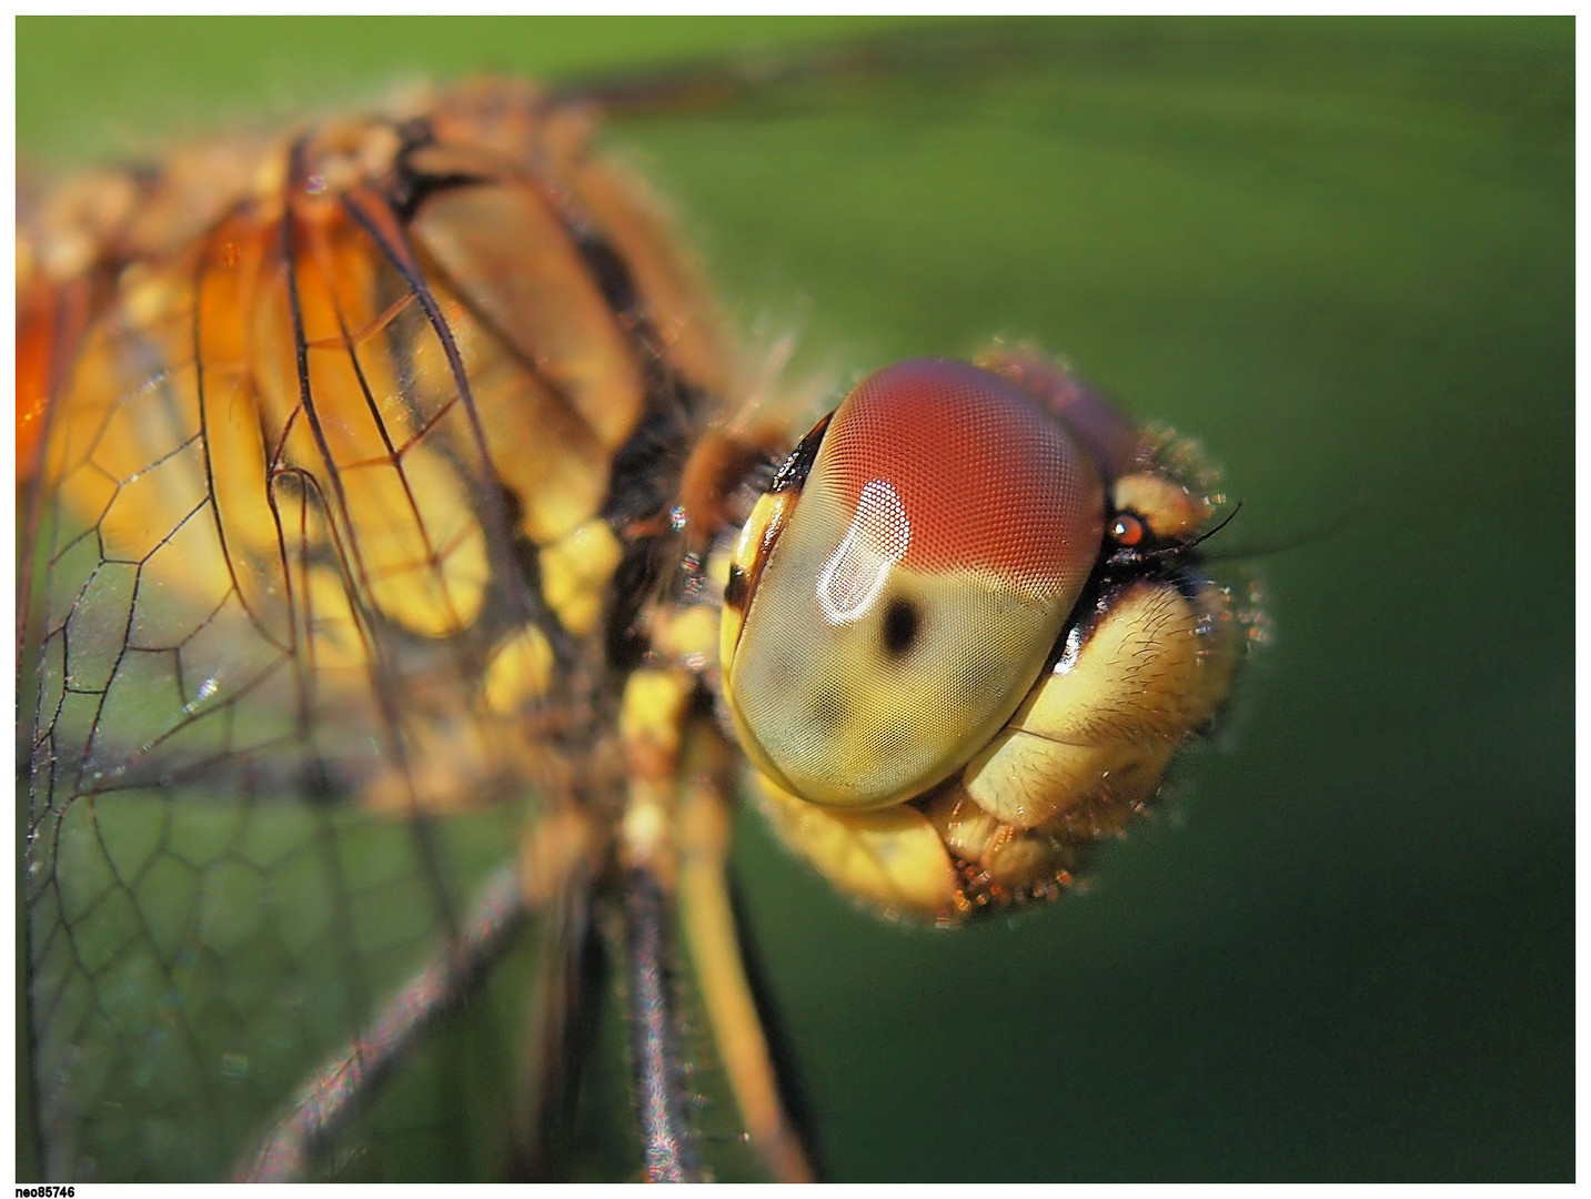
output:
<svg viewBox="0 0 1591 1199"><path fill-rule="evenodd" d="M1037 353L864 378L757 499L724 592L725 706L786 844L940 922L1069 886L1257 627L1200 565L1214 487Z"/></svg>

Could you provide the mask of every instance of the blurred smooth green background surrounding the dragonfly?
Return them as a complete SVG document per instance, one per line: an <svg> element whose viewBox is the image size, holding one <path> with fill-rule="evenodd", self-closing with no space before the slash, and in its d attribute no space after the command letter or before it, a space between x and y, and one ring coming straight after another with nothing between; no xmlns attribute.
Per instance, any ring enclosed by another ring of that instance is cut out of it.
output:
<svg viewBox="0 0 1591 1199"><path fill-rule="evenodd" d="M18 137L37 175L423 75L872 27L19 21ZM1572 43L931 25L609 130L802 367L1039 340L1225 464L1219 552L1274 550L1227 728L1087 894L888 927L741 822L829 1177L1573 1175Z"/></svg>

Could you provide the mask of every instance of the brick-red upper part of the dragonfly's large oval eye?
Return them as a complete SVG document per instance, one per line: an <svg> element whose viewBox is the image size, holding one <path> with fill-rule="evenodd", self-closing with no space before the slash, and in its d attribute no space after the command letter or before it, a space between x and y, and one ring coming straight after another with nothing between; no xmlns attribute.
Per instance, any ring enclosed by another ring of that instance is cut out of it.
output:
<svg viewBox="0 0 1591 1199"><path fill-rule="evenodd" d="M1091 458L1028 394L966 363L915 359L864 378L834 413L821 460L851 510L864 491L893 491L905 566L983 569L1069 604L1099 550Z"/></svg>

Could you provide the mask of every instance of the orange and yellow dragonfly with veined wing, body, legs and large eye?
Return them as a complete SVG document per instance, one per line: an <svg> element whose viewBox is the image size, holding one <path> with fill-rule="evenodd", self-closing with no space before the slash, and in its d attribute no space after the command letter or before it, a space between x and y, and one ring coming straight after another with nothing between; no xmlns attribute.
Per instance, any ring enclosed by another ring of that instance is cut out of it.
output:
<svg viewBox="0 0 1591 1199"><path fill-rule="evenodd" d="M1026 345L780 394L589 99L425 89L19 229L43 1177L555 1174L608 976L635 1169L810 1177L735 809L958 925L1217 717L1258 619L1192 442Z"/></svg>

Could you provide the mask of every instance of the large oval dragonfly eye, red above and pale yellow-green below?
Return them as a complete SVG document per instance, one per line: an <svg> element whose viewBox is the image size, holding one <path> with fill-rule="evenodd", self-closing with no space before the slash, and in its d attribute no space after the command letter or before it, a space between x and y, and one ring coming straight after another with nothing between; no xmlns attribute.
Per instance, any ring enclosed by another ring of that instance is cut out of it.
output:
<svg viewBox="0 0 1591 1199"><path fill-rule="evenodd" d="M834 806L947 778L1033 685L1103 526L1093 460L1013 383L942 359L862 380L725 662L746 752Z"/></svg>

